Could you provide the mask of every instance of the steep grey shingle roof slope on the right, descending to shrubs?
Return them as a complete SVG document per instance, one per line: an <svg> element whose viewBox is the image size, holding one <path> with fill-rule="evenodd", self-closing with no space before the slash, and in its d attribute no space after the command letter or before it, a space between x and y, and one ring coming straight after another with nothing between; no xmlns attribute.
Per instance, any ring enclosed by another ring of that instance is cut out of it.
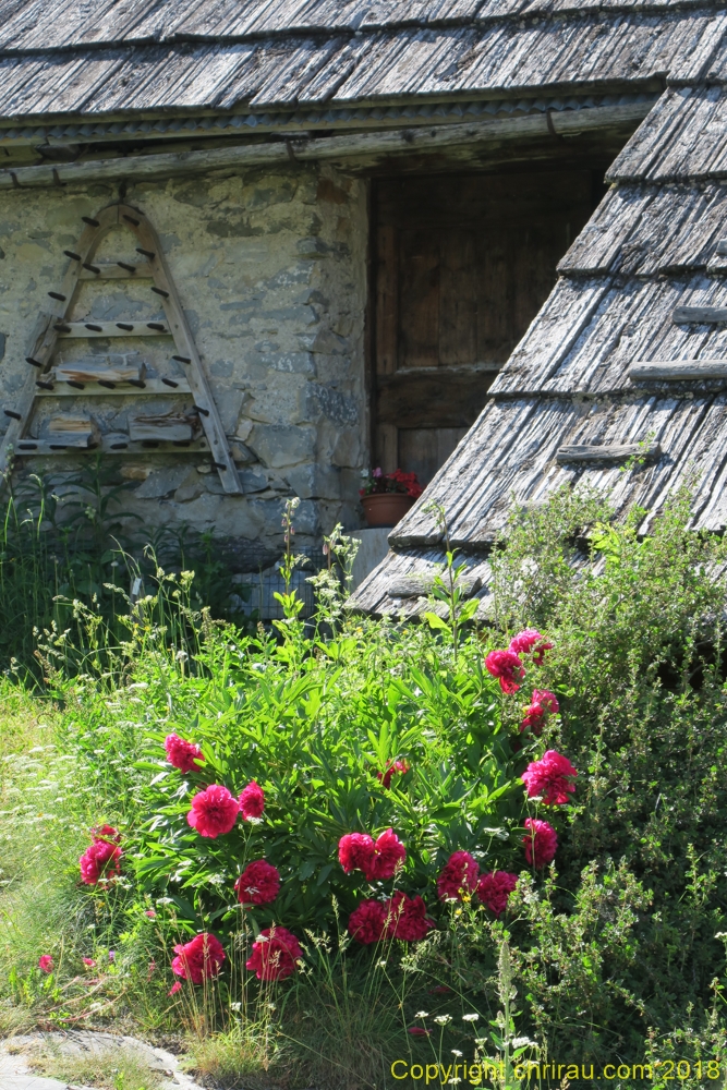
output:
<svg viewBox="0 0 727 1090"><path fill-rule="evenodd" d="M478 420L358 592L362 608L412 611L389 586L437 558L432 500L473 567L486 564L513 505L565 484L597 488L621 514L657 510L688 484L692 525L727 528L726 58L720 44L708 60L682 57L671 69ZM712 377L679 361L702 361Z"/></svg>

